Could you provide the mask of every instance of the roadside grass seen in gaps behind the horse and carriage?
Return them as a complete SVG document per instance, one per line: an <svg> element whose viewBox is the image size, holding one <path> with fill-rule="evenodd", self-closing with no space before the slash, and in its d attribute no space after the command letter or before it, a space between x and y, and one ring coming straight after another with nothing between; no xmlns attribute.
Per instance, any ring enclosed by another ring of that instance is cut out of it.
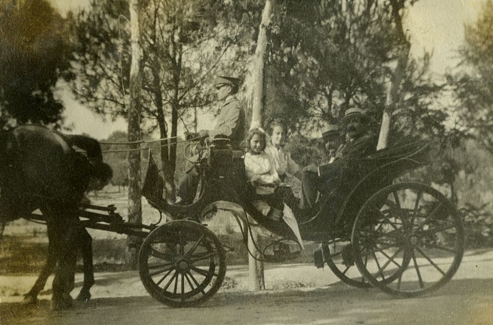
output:
<svg viewBox="0 0 493 325"><path fill-rule="evenodd" d="M118 192L117 187L107 187L95 195L89 195L93 204L107 206L113 204L117 212L127 219L127 193ZM159 212L142 199L142 223L152 224L159 221ZM163 219L165 217L163 216ZM160 224L163 224L162 220ZM208 227L219 237L225 246L228 265L245 265L248 263L246 244L238 232L236 220L229 214L219 213L207 221ZM478 246L491 247L491 242L478 243L477 237L466 227L466 249ZM95 271L119 271L125 269L127 251L126 235L109 231L88 229L93 238L93 256ZM481 238L480 238L481 239ZM38 273L48 253L46 226L27 220L17 220L5 228L0 243L0 272L6 273ZM312 263L315 243L306 243L307 254L285 263ZM82 261L78 261L78 270L82 271Z"/></svg>

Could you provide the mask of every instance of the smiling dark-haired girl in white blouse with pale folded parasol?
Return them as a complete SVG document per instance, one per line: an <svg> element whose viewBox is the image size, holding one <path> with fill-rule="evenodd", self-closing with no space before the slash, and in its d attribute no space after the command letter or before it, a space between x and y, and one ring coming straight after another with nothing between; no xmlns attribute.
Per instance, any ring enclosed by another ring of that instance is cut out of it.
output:
<svg viewBox="0 0 493 325"><path fill-rule="evenodd" d="M265 147L265 132L259 129L250 130L247 137L248 152L245 154L245 170L246 177L254 187L258 198L252 204L268 218L278 221L282 218L293 230L303 248L303 241L293 212L278 195L274 194L275 189L281 185L281 180L269 155L264 151Z"/></svg>

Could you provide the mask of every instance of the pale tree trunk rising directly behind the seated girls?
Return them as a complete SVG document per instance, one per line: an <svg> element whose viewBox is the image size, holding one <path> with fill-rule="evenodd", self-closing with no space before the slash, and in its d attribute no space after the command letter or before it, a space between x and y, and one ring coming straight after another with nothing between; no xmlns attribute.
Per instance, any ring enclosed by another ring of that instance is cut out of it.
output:
<svg viewBox="0 0 493 325"><path fill-rule="evenodd" d="M262 21L260 22L257 38L257 47L253 58L253 68L246 80L246 105L251 108L251 122L261 123L262 121L262 97L264 95L264 67L267 55L267 29L272 21L273 6L275 0L266 0L262 11ZM251 238L248 235L248 249L259 258L260 253L255 249L253 241L257 241L256 235ZM263 262L248 256L248 289L250 291L265 290L264 265Z"/></svg>

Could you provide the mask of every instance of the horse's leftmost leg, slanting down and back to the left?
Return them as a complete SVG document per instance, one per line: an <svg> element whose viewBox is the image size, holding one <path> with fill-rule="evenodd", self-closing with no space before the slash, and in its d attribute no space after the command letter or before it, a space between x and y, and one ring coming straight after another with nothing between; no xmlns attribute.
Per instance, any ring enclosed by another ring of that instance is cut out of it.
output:
<svg viewBox="0 0 493 325"><path fill-rule="evenodd" d="M60 245L60 242L56 242L57 235L54 233L54 231L56 232L57 227L54 227L52 222L47 223L46 227L48 233L48 258L33 288L31 288L31 290L24 295L24 303L33 303L37 300L37 295L41 290L43 290L46 280L53 272L53 269L57 264L55 247Z"/></svg>

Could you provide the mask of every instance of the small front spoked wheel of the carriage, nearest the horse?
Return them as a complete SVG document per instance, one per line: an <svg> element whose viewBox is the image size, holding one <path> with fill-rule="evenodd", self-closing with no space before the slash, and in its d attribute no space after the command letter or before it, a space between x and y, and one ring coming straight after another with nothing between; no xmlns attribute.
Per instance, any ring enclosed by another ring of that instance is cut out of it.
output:
<svg viewBox="0 0 493 325"><path fill-rule="evenodd" d="M206 227L175 221L155 229L139 254L141 280L160 302L192 306L208 299L226 273L224 249Z"/></svg>

